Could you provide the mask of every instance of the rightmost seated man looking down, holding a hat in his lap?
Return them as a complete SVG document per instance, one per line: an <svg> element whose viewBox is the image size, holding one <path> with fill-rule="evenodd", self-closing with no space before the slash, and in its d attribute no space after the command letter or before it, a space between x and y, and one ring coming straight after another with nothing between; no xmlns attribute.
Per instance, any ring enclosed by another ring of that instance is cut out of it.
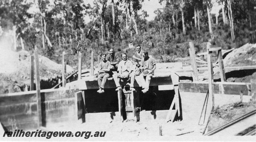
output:
<svg viewBox="0 0 256 142"><path fill-rule="evenodd" d="M138 84L141 84L143 88L141 91L146 93L149 89L150 79L154 75L154 71L156 69L156 60L152 57L149 57L148 52L143 52L142 56L143 58L141 60L140 66L142 73L139 76L136 76L136 81ZM146 80L144 80L144 77L146 77Z"/></svg>

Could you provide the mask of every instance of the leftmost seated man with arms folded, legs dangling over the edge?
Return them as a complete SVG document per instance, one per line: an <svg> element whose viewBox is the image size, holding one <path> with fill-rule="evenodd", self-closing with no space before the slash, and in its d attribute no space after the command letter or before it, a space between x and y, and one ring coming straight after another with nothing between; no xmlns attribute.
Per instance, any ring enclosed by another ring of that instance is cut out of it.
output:
<svg viewBox="0 0 256 142"><path fill-rule="evenodd" d="M109 72L111 69L111 64L106 60L106 54L100 54L102 61L99 63L99 75L98 75L98 84L99 90L98 93L104 93L104 85L106 83L107 78L110 77Z"/></svg>

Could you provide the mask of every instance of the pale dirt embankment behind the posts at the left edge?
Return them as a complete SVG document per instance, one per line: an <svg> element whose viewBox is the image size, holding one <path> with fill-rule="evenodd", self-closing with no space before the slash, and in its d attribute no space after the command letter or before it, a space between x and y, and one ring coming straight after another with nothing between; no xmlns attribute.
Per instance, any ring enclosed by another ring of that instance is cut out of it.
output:
<svg viewBox="0 0 256 142"><path fill-rule="evenodd" d="M0 94L25 91L25 86L30 84L29 52L23 50L14 52L9 48L2 47L1 50ZM61 78L61 69L61 64L57 64L49 58L39 55L40 88L48 89L56 85L59 78ZM69 65L67 65L66 69L66 75L74 71ZM35 87L34 85L34 89Z"/></svg>

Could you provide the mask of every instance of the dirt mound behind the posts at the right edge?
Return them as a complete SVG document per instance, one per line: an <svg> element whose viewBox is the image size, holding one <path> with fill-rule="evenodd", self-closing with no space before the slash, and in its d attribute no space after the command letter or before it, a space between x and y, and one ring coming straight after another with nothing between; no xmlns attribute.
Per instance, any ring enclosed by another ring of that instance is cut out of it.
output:
<svg viewBox="0 0 256 142"><path fill-rule="evenodd" d="M215 60L214 60L215 59ZM213 63L217 61L213 57ZM256 65L256 44L245 44L240 48L234 49L223 59L224 67L238 67L238 66L252 66ZM220 81L219 67L214 67L214 80ZM252 78L256 78L256 70L228 70L226 72L226 79L228 82L250 82ZM208 71L199 74L200 80L208 79Z"/></svg>

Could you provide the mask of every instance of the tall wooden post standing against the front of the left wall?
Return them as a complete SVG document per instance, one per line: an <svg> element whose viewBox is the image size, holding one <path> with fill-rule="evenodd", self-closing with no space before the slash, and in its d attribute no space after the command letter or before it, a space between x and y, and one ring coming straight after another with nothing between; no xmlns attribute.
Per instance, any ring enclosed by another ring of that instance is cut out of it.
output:
<svg viewBox="0 0 256 142"><path fill-rule="evenodd" d="M37 107L37 117L38 117L38 128L42 126L42 110L41 110L41 93L40 93L40 77L39 77L39 59L38 59L38 49L35 46L35 62L36 62L36 107Z"/></svg>

